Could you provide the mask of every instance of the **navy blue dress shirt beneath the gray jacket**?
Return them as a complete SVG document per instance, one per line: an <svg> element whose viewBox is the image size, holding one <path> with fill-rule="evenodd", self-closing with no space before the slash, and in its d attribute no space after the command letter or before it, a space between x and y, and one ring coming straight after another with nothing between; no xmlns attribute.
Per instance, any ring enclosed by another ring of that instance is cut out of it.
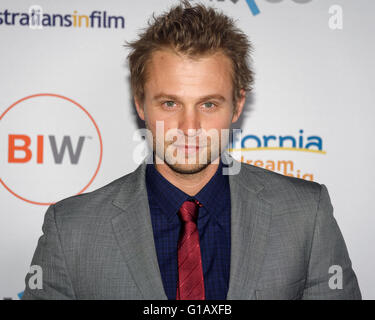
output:
<svg viewBox="0 0 375 320"><path fill-rule="evenodd" d="M194 197L184 193L148 164L146 186L154 232L155 248L165 293L176 299L177 243L181 229L178 211L190 199L199 207L197 227L202 256L206 300L225 300L230 270L230 188L223 163L211 180Z"/></svg>

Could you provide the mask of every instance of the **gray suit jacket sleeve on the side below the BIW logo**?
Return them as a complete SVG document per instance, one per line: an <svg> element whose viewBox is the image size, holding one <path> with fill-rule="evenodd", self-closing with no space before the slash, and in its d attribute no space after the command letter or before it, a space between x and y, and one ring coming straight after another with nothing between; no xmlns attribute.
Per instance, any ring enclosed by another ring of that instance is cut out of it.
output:
<svg viewBox="0 0 375 320"><path fill-rule="evenodd" d="M56 226L54 206L48 208L42 230L43 235L39 238L31 265L42 268L43 287L31 289L29 279L32 274L27 274L22 300L75 299Z"/></svg>

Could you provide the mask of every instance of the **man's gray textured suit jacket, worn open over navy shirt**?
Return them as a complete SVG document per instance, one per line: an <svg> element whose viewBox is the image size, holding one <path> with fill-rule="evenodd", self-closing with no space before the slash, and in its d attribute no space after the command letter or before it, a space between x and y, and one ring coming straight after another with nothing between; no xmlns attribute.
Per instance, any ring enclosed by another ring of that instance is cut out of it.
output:
<svg viewBox="0 0 375 320"><path fill-rule="evenodd" d="M23 299L167 299L145 168L49 207L31 263L43 288L30 289L28 274ZM324 185L247 164L229 182L227 299L361 299Z"/></svg>

